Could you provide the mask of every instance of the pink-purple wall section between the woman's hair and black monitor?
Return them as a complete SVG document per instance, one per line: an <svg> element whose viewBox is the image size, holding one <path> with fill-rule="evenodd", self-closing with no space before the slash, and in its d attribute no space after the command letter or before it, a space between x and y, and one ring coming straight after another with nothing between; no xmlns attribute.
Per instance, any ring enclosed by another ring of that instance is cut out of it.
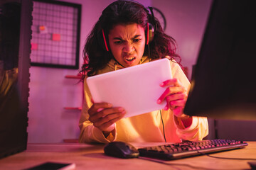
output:
<svg viewBox="0 0 256 170"><path fill-rule="evenodd" d="M166 16L166 33L176 40L181 64L188 67L189 79L192 66L196 64L210 4L211 0L152 1L152 6L161 9Z"/></svg>

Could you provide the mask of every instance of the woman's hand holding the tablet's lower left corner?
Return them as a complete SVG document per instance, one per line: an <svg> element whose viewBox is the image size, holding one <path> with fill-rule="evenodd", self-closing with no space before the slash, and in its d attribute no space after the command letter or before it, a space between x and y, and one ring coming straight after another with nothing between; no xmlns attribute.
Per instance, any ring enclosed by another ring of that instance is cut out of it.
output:
<svg viewBox="0 0 256 170"><path fill-rule="evenodd" d="M125 113L124 108L113 108L112 104L105 102L93 103L88 110L89 120L96 128L102 130L105 136L114 130L114 123L123 118Z"/></svg>

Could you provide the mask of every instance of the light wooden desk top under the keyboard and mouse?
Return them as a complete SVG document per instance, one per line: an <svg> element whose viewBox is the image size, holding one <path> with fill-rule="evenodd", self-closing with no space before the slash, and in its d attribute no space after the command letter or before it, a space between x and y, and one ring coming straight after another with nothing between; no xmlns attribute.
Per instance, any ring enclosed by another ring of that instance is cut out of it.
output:
<svg viewBox="0 0 256 170"><path fill-rule="evenodd" d="M228 152L213 154L216 157L256 158L256 142ZM145 147L150 143L132 143ZM0 159L0 169L26 169L43 162L75 163L76 169L250 169L246 160L216 159L198 156L173 161L152 162L146 159L119 159L103 154L105 145L79 143L28 144L26 151ZM193 166L193 167L191 167Z"/></svg>

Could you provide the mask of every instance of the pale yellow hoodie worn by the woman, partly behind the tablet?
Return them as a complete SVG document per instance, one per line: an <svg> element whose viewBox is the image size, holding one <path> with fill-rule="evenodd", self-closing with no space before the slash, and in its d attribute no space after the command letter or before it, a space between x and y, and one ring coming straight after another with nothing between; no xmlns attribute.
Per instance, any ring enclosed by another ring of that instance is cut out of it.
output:
<svg viewBox="0 0 256 170"><path fill-rule="evenodd" d="M149 62L147 57L142 57L141 64ZM187 89L190 83L183 73L181 67L176 63L170 61L172 76L183 84ZM111 60L107 66L97 72L102 74L105 72L112 72L123 67ZM181 128L182 125L176 125L174 115L169 109L168 111L161 110L161 115L164 120L161 122L160 111L153 111L142 115L136 115L130 118L122 118L115 123L114 132L106 138L102 131L93 126L90 122L88 109L92 106L91 94L87 87L86 78L84 81L85 102L82 106L82 113L80 115L79 127L80 137L79 142L101 142L107 143L114 140L124 142L181 142L182 140L202 140L208 135L208 120L202 117L193 117L192 125L188 128ZM161 94L159 94L161 95Z"/></svg>

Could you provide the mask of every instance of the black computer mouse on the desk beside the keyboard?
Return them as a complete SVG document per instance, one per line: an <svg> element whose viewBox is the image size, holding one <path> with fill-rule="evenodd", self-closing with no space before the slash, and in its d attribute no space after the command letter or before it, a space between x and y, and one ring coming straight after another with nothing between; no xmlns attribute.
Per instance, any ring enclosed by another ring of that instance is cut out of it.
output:
<svg viewBox="0 0 256 170"><path fill-rule="evenodd" d="M110 142L104 147L105 154L119 158L137 158L139 151L127 142Z"/></svg>

